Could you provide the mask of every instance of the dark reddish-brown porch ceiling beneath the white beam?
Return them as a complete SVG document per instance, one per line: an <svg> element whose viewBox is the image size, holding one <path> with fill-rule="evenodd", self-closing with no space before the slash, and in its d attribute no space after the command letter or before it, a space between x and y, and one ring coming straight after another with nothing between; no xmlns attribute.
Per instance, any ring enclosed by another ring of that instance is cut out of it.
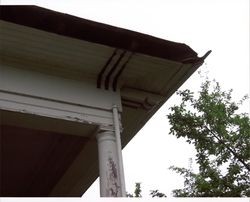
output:
<svg viewBox="0 0 250 202"><path fill-rule="evenodd" d="M1 195L48 196L88 138L1 125Z"/></svg>

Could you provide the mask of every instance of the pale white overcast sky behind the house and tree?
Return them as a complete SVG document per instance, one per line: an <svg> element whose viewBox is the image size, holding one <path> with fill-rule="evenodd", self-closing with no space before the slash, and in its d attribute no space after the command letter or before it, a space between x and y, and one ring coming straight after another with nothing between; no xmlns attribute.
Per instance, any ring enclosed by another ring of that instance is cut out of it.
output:
<svg viewBox="0 0 250 202"><path fill-rule="evenodd" d="M4 4L35 4L52 10L102 22L162 39L189 45L199 56L212 53L200 68L222 89L233 89L239 100L250 94L249 1L248 0L0 0ZM180 89L198 91L201 78L195 72ZM159 189L183 186L183 178L168 168L186 167L195 158L194 148L169 135L169 107L178 103L173 95L123 149L126 189L132 193L142 183L143 197ZM242 112L250 111L246 103ZM83 198L99 197L98 180Z"/></svg>

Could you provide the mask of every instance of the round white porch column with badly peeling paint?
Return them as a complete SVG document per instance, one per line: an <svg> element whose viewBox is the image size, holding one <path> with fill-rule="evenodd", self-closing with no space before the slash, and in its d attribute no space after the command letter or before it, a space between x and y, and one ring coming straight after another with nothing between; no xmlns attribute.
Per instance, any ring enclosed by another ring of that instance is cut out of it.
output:
<svg viewBox="0 0 250 202"><path fill-rule="evenodd" d="M97 134L100 196L121 197L121 180L115 134L112 130L101 130Z"/></svg>

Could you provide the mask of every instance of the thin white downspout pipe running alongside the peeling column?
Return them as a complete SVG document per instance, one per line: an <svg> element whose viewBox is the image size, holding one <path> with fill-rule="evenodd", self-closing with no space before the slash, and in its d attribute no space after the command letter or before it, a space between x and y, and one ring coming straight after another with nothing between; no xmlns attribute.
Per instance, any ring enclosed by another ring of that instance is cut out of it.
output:
<svg viewBox="0 0 250 202"><path fill-rule="evenodd" d="M120 174L121 181L121 195L122 197L126 197L126 188L125 188L125 177L124 177L124 168L122 161L122 148L121 148L121 133L120 133L120 122L118 116L117 106L113 105L113 119L114 119L114 128L115 128L115 138L116 138L116 147L117 147L117 156L118 156L118 169Z"/></svg>

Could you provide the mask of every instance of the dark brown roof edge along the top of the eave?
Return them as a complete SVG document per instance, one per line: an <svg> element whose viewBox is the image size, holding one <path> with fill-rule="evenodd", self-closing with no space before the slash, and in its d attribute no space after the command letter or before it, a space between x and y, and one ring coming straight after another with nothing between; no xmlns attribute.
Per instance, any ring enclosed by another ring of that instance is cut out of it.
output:
<svg viewBox="0 0 250 202"><path fill-rule="evenodd" d="M43 31L182 63L196 63L189 46L38 6L0 6L0 19Z"/></svg>

